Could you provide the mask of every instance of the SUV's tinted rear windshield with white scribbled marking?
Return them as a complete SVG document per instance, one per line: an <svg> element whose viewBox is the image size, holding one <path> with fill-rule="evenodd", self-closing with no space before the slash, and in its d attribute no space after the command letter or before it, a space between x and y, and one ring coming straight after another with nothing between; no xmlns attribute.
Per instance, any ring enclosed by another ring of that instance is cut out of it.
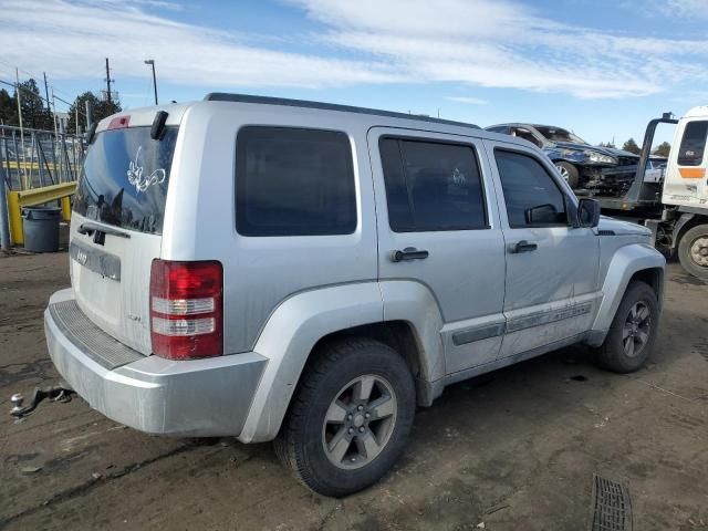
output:
<svg viewBox="0 0 708 531"><path fill-rule="evenodd" d="M98 133L88 147L74 210L124 229L162 233L177 127L160 140L149 127Z"/></svg>

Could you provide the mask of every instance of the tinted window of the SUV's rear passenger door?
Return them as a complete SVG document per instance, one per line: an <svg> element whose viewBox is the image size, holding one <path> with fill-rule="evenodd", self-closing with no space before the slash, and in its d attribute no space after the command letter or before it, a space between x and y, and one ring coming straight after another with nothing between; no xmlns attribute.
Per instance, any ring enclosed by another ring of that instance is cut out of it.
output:
<svg viewBox="0 0 708 531"><path fill-rule="evenodd" d="M395 232L487 228L472 147L384 137L378 145Z"/></svg>

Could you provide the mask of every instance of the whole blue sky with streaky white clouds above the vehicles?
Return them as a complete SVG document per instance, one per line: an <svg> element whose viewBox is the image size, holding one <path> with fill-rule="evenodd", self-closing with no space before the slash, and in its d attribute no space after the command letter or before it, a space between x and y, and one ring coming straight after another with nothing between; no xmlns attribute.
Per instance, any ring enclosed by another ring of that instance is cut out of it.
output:
<svg viewBox="0 0 708 531"><path fill-rule="evenodd" d="M708 0L0 0L0 79L46 72L72 101L108 56L124 107L144 106L154 58L162 101L243 92L622 144L707 103L707 23Z"/></svg>

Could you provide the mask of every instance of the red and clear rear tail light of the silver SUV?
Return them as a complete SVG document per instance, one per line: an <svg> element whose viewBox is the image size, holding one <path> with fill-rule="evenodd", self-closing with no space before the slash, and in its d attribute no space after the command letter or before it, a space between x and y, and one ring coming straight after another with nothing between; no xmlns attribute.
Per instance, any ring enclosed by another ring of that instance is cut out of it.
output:
<svg viewBox="0 0 708 531"><path fill-rule="evenodd" d="M153 353L168 360L223 354L223 270L217 261L153 260Z"/></svg>

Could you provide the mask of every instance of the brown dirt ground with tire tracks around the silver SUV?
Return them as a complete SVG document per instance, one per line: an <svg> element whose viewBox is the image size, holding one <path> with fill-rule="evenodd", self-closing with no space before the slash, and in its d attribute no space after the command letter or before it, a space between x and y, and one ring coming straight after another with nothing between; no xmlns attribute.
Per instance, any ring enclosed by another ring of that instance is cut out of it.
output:
<svg viewBox="0 0 708 531"><path fill-rule="evenodd" d="M677 264L646 368L608 374L575 347L455 385L392 473L335 500L270 445L152 437L82 399L14 423L12 393L59 381L42 311L67 261L0 258L0 528L577 531L597 473L627 486L635 530L708 529L708 285Z"/></svg>

